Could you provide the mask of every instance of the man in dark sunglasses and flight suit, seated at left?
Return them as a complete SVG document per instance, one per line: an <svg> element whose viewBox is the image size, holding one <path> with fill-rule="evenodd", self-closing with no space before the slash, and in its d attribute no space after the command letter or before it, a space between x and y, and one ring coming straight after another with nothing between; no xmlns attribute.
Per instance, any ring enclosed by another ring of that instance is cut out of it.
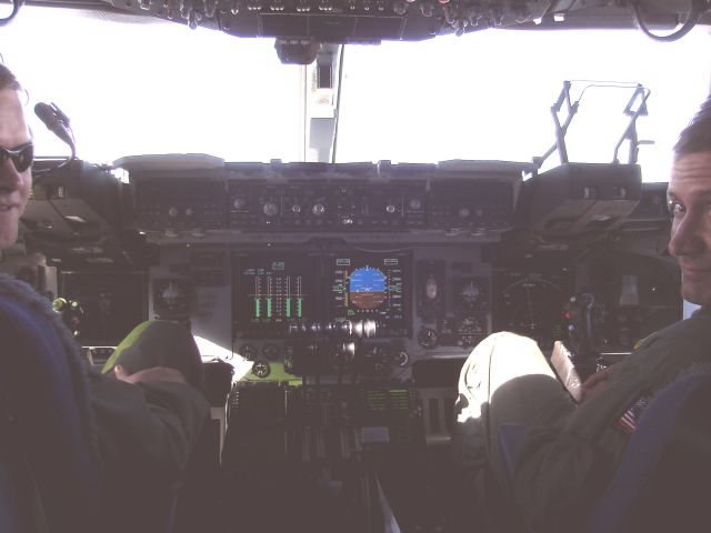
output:
<svg viewBox="0 0 711 533"><path fill-rule="evenodd" d="M0 250L14 244L32 189L33 147L20 93L16 77L0 64ZM66 355L63 364L71 371L71 383L82 390L77 393L81 399L78 403L88 406L78 405L78 411L87 429L89 449L101 470L106 500L117 511L102 531L164 531L171 520L173 489L181 483L209 412L200 390L202 366L192 334L176 322L146 322L121 343L112 374L104 375L81 358L79 346L50 302L31 286L0 272L0 294L33 310L47 322L43 328L54 330ZM24 345L13 341L0 339L6 349L12 346L10 352ZM0 354L14 355L1 349ZM12 368L11 361L3 363ZM7 395L3 385L0 405L4 406L8 400L7 409L14 406L22 413L18 405L27 401L28 394L31 396L32 383L22 386L21 398L17 399ZM49 445L48 455L51 454ZM62 461L61 456L51 459ZM4 495L0 503L4 503L3 499ZM0 519L3 509L0 505ZM37 520L41 524L43 519ZM0 529L4 523L0 520Z"/></svg>

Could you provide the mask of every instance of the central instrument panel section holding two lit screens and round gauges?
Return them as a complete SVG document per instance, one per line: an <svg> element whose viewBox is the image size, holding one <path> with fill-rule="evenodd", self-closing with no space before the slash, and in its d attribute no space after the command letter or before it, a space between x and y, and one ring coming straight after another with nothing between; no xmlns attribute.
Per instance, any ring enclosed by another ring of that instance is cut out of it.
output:
<svg viewBox="0 0 711 533"><path fill-rule="evenodd" d="M471 251L274 248L231 255L231 344L254 362L248 379L390 376L463 355L490 331L488 265Z"/></svg>

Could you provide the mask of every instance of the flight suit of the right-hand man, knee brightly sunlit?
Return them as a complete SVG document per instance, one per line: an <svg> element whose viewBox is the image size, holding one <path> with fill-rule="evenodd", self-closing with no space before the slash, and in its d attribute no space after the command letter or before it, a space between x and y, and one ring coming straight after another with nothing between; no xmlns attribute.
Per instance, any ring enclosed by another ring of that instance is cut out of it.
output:
<svg viewBox="0 0 711 533"><path fill-rule="evenodd" d="M614 473L643 406L680 376L709 371L710 345L711 311L703 309L647 338L614 366L602 393L575 404L532 340L490 335L460 375L460 464L472 477L488 472L482 495L499 491L502 509L519 510L537 531L580 524ZM501 454L502 424L528 428L513 476Z"/></svg>

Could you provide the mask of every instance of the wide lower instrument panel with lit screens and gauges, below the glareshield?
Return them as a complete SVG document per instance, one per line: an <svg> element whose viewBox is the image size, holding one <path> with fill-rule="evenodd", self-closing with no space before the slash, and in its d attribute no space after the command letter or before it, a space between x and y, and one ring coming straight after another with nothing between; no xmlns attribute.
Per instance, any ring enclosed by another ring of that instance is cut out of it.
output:
<svg viewBox="0 0 711 533"><path fill-rule="evenodd" d="M86 345L116 345L146 319L178 320L210 340L203 354L248 361L243 379L256 382L405 379L418 361L464 358L494 331L547 352L567 339L580 292L595 301L599 353L629 351L679 316L673 266L630 254L505 265L483 261L480 244L304 248L163 247L148 275L67 272L59 291L88 311L77 326Z"/></svg>

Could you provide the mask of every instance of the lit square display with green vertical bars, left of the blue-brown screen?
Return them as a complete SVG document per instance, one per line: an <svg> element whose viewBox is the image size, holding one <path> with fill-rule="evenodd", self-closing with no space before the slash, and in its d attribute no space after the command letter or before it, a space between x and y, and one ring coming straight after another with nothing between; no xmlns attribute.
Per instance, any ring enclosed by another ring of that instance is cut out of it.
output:
<svg viewBox="0 0 711 533"><path fill-rule="evenodd" d="M238 255L232 295L238 336L286 336L314 320L317 260L309 255Z"/></svg>

